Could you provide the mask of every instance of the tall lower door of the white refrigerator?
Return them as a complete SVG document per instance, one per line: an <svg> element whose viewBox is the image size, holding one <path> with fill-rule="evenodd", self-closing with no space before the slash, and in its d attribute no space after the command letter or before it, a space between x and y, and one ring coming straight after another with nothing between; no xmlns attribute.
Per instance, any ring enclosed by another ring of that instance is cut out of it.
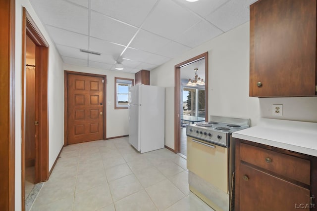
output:
<svg viewBox="0 0 317 211"><path fill-rule="evenodd" d="M141 151L141 106L129 105L129 143Z"/></svg>

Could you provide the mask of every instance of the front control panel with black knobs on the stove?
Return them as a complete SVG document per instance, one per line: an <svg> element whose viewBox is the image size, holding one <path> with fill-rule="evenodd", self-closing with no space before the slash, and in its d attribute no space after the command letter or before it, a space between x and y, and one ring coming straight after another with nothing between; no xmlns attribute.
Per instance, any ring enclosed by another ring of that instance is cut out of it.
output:
<svg viewBox="0 0 317 211"><path fill-rule="evenodd" d="M214 131L210 128L187 126L186 135L208 141L220 146L228 146L227 136L229 133Z"/></svg>

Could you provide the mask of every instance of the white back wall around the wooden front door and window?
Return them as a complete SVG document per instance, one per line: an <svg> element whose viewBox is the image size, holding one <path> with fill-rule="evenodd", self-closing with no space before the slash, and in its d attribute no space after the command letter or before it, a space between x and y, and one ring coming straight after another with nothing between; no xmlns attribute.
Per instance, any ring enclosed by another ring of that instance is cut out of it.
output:
<svg viewBox="0 0 317 211"><path fill-rule="evenodd" d="M134 79L134 74L120 71L101 70L65 64L64 69L74 72L106 75L106 137L129 134L128 110L114 109L114 77ZM110 105L108 103L110 102Z"/></svg>

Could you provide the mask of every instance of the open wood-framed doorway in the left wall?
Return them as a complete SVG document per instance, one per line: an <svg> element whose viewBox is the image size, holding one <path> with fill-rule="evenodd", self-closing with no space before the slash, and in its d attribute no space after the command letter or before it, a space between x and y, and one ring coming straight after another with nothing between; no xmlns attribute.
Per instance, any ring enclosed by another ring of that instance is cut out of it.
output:
<svg viewBox="0 0 317 211"><path fill-rule="evenodd" d="M49 178L48 64L49 44L23 7L21 124L23 211L27 199L26 183L29 182L26 179L36 184ZM32 166L33 169L29 174L26 168Z"/></svg>

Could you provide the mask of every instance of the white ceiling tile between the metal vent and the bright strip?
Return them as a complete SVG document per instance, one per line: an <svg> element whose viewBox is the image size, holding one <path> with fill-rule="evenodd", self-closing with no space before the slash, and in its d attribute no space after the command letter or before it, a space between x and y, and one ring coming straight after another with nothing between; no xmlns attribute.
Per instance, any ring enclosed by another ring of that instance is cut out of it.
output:
<svg viewBox="0 0 317 211"><path fill-rule="evenodd" d="M89 39L89 50L101 52L103 54L112 55L117 58L124 50L125 46L107 42L98 38Z"/></svg>

